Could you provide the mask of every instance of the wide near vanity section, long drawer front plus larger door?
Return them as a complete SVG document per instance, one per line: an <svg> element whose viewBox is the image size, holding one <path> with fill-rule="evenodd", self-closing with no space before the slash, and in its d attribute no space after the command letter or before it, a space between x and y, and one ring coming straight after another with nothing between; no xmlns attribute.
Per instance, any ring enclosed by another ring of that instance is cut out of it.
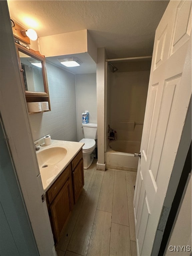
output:
<svg viewBox="0 0 192 256"><path fill-rule="evenodd" d="M74 200L69 164L46 192L47 207L54 242L57 244L71 215Z"/></svg>

